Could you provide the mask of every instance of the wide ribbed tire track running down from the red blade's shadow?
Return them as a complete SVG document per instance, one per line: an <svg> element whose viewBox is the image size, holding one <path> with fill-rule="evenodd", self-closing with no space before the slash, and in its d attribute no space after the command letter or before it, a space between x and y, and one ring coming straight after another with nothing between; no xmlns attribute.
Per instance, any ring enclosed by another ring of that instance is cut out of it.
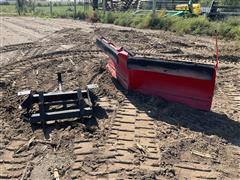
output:
<svg viewBox="0 0 240 180"><path fill-rule="evenodd" d="M158 164L160 155L156 143L154 121L145 112L138 111L127 99L123 101L117 111L116 118L113 120L109 143L116 143L113 151L120 155L114 161L116 163L115 167L118 167L117 164L120 167L123 164L133 164L135 158L129 151L134 146L139 148L143 154L148 153L148 156L140 157L146 158L143 162L141 162L141 159L138 160L139 162L136 162L140 169L149 170L150 168L153 170ZM146 146L146 149L144 149L142 144ZM137 150L135 149L135 151Z"/></svg>

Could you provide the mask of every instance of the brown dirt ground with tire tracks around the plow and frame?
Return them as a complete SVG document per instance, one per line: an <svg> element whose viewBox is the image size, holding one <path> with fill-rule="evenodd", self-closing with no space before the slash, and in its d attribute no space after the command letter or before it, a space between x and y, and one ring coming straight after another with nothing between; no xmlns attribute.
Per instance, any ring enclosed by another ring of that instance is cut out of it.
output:
<svg viewBox="0 0 240 180"><path fill-rule="evenodd" d="M105 69L102 35L132 52L215 63L214 38L67 19L1 17L0 179L240 179L240 47L220 41L211 112L127 92ZM30 124L21 90L96 83L94 118Z"/></svg>

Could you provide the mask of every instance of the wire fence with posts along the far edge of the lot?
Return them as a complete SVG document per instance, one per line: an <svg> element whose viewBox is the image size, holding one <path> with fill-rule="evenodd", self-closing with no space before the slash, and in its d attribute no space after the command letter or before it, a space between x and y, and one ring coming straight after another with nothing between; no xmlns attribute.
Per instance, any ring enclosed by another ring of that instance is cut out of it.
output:
<svg viewBox="0 0 240 180"><path fill-rule="evenodd" d="M208 0L208 2L210 1L213 2L212 0ZM163 10L170 10L168 11L168 15L178 15L178 13L174 11L171 12L171 10L175 10L176 6L180 4L185 4L186 7L189 7L189 2L189 0L1 0L0 15L33 15L41 17L72 17L85 19L89 17L90 14L94 14L93 12L95 10L103 13L106 11L130 11L136 14L148 13L151 11L155 13L159 10L161 13ZM192 2L198 3L199 0L192 0ZM202 6L199 8L199 11L204 14L210 11L211 6ZM224 14L224 16L239 16L239 12L239 6L220 5L217 7L215 14L220 13Z"/></svg>

